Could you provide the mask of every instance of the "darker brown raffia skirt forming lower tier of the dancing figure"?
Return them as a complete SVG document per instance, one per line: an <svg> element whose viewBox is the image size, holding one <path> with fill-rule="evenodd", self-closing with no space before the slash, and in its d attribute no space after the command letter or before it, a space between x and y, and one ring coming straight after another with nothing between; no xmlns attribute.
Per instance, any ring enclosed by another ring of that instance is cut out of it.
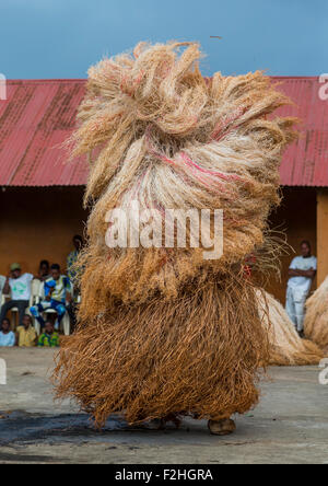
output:
<svg viewBox="0 0 328 486"><path fill-rule="evenodd" d="M130 423L186 413L220 419L257 402L267 343L251 285L209 275L169 305L160 297L121 304L80 326L61 351L58 391L99 425L121 410Z"/></svg>

